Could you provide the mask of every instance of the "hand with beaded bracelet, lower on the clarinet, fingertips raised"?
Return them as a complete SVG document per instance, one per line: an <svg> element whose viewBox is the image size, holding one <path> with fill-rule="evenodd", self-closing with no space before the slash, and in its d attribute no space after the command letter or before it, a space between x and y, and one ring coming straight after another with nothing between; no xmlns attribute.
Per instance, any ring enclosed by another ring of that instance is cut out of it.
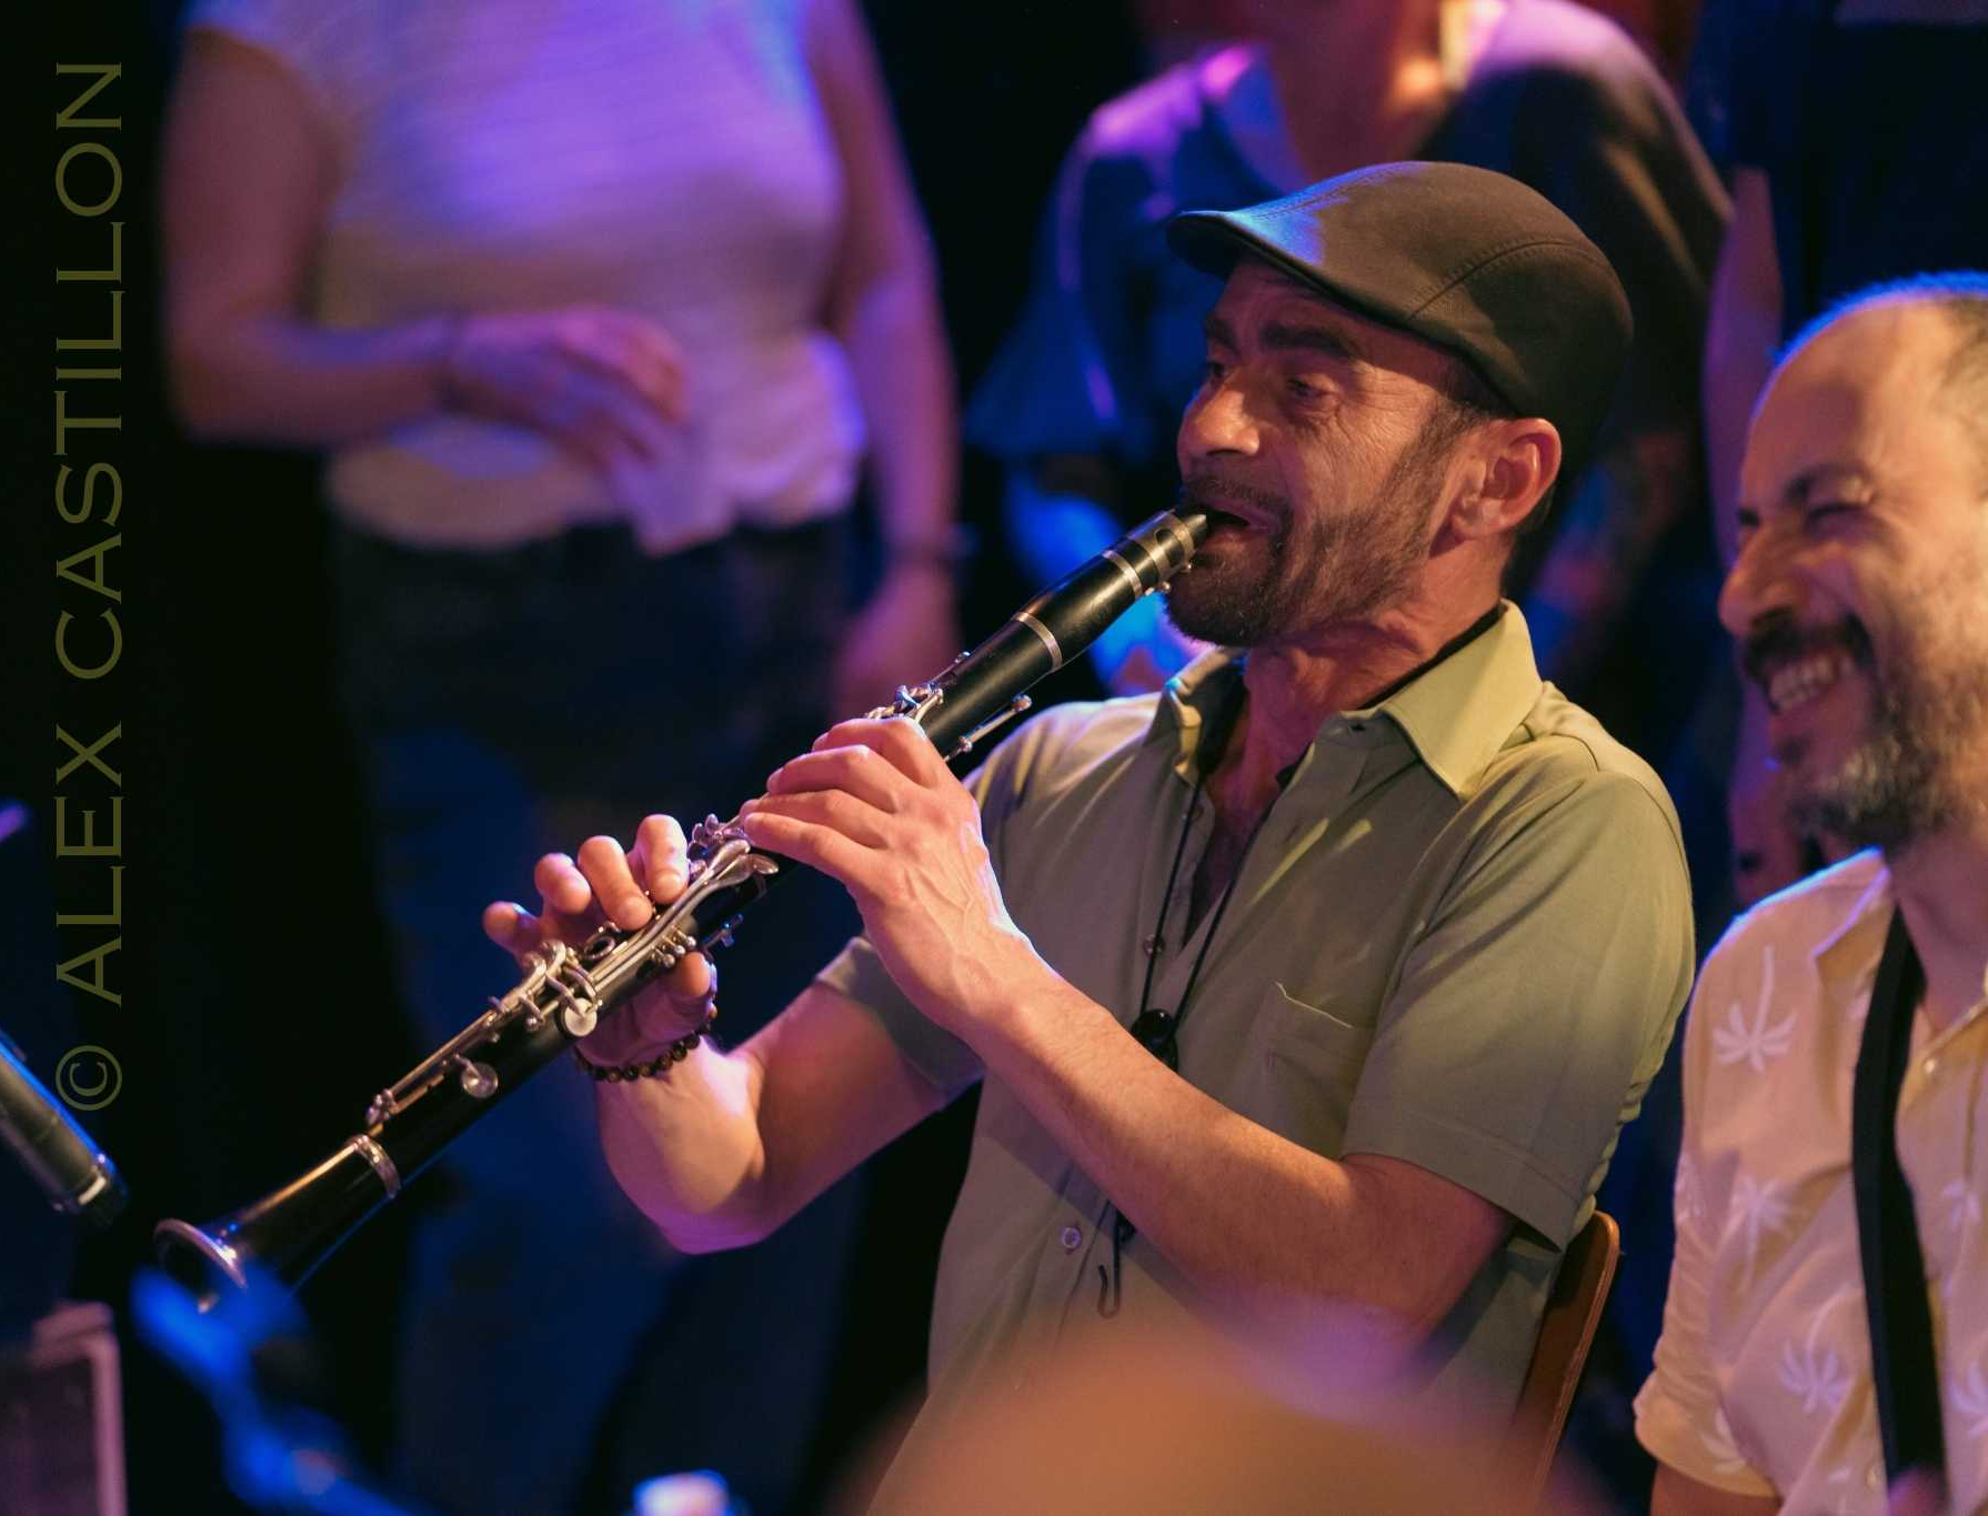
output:
<svg viewBox="0 0 1988 1516"><path fill-rule="evenodd" d="M646 926L656 906L676 900L690 880L684 829L674 817L644 817L634 848L624 852L612 836L588 836L577 858L547 852L531 878L539 890L537 914L511 900L483 908L483 934L519 962L553 940L579 946L602 922L624 932ZM600 1065L654 1057L704 1025L716 984L712 960L690 954L628 1005L600 1017L592 1035L580 1039L582 1053Z"/></svg>

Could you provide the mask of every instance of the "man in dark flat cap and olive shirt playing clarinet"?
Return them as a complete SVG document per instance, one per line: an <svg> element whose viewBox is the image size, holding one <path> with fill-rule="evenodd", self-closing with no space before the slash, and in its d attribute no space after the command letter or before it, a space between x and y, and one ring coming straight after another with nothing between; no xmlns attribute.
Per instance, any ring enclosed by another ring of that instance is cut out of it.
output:
<svg viewBox="0 0 1988 1516"><path fill-rule="evenodd" d="M1036 717L964 785L911 721L829 729L742 817L863 936L738 1049L694 1043L700 956L579 1043L616 1176L686 1250L765 1236L982 1083L914 1435L1083 1321L1334 1323L1509 1413L1690 985L1670 801L1499 598L1628 348L1606 258L1439 163L1171 244L1227 278L1177 443L1213 531L1167 592L1219 652ZM525 954L684 880L648 817L485 926Z"/></svg>

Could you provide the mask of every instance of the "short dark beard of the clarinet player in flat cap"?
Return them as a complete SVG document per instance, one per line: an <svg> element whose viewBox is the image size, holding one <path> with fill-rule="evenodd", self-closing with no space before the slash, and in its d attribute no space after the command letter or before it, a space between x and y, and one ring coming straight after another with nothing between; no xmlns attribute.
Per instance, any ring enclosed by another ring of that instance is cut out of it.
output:
<svg viewBox="0 0 1988 1516"><path fill-rule="evenodd" d="M1423 437L1408 447L1358 517L1308 517L1290 501L1191 473L1181 505L1221 513L1201 499L1248 501L1276 521L1264 546L1264 564L1252 568L1225 560L1221 548L1203 548L1189 572L1167 590L1167 620L1183 634L1223 648L1264 648L1332 622L1360 622L1402 602L1427 558L1429 491L1449 457L1449 441Z"/></svg>

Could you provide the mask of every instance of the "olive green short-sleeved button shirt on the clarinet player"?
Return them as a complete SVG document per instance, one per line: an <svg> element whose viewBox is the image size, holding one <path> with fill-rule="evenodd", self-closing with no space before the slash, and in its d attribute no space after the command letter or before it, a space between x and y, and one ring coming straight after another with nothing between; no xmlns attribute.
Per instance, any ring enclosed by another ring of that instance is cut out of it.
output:
<svg viewBox="0 0 1988 1516"><path fill-rule="evenodd" d="M1195 747L1241 678L1209 654L1159 695L1062 705L974 775L1014 922L1119 1023L1139 1013L1167 872L1153 1005L1181 1007L1181 1075L1328 1158L1406 1158L1519 1226L1437 1333L1431 1391L1509 1411L1559 1248L1578 1230L1692 982L1678 819L1656 775L1543 683L1519 610L1374 709L1320 727L1227 910L1185 932L1213 807ZM1215 761L1215 755L1209 755ZM948 1099L982 1077L855 940L823 982L867 1007ZM946 1230L930 1389L954 1399L1024 1329L1099 1311L1111 1200L988 1079ZM1292 1246L1304 1236L1292 1218ZM1143 1236L1115 1321L1193 1311Z"/></svg>

